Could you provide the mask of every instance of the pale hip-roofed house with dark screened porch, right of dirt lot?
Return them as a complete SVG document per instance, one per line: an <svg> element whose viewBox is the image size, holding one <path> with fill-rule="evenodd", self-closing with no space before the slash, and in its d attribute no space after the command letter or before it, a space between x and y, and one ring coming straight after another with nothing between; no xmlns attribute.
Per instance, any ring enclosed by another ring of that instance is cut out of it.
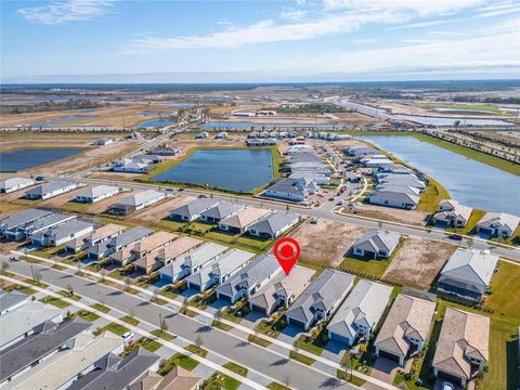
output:
<svg viewBox="0 0 520 390"><path fill-rule="evenodd" d="M480 301L490 287L498 256L489 250L457 249L441 271L440 291Z"/></svg>

